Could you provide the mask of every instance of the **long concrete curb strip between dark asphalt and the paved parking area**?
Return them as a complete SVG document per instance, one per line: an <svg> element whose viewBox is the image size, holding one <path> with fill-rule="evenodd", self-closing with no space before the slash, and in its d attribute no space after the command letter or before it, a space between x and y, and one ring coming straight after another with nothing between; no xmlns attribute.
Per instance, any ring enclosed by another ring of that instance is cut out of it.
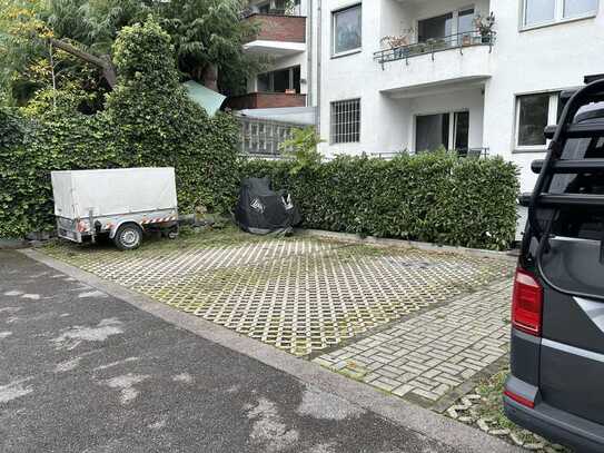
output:
<svg viewBox="0 0 604 453"><path fill-rule="evenodd" d="M133 290L51 258L38 250L20 250L21 254L62 272L89 286L102 290L137 308L189 331L202 338L237 353L247 355L299 381L335 394L351 404L364 407L390 422L405 426L427 437L437 440L459 452L522 452L498 439L463 425L432 411L412 405L394 395L385 394L369 385L349 380L311 362L296 358L273 346L239 335L202 318L179 312Z"/></svg>

